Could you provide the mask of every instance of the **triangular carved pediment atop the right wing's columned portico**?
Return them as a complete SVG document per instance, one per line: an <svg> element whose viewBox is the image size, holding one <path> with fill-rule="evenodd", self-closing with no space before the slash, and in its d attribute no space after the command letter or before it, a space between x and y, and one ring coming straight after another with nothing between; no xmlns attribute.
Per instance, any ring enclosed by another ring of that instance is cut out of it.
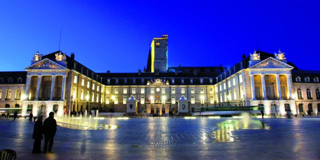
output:
<svg viewBox="0 0 320 160"><path fill-rule="evenodd" d="M268 57L249 68L290 68L292 69L293 66L288 65L280 60L274 59L272 57Z"/></svg>

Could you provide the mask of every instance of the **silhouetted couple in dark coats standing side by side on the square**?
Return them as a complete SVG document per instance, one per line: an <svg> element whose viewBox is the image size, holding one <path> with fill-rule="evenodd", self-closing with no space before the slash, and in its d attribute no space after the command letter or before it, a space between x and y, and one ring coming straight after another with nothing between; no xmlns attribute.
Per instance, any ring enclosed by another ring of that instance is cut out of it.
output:
<svg viewBox="0 0 320 160"><path fill-rule="evenodd" d="M50 112L49 117L47 117L42 126L42 115L38 116L38 120L34 123L34 129L32 138L34 139L32 153L41 153L41 139L43 139L42 134L44 134L44 146L43 153L53 153L53 137L56 132L56 121L53 118L54 113ZM49 145L49 146L48 146Z"/></svg>

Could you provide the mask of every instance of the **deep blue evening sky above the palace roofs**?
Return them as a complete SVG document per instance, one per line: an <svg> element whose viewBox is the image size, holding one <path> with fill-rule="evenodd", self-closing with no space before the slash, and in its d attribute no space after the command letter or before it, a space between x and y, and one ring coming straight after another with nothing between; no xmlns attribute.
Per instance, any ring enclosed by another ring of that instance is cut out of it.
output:
<svg viewBox="0 0 320 160"><path fill-rule="evenodd" d="M168 34L169 66L230 66L253 49L281 48L319 70L316 0L1 0L0 71L60 50L95 72L137 72L153 37ZM258 37L258 38L257 38ZM257 47L257 39L258 46Z"/></svg>

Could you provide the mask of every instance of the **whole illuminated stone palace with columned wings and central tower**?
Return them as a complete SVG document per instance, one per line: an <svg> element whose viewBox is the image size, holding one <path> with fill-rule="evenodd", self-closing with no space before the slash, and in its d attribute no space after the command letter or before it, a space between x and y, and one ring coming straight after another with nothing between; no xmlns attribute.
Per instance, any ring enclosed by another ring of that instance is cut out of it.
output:
<svg viewBox="0 0 320 160"><path fill-rule="evenodd" d="M127 102L135 100L135 112L162 115L182 112L179 99L186 104L183 112L191 113L208 106L254 105L266 114L320 110L320 71L299 70L280 50L243 54L230 68L170 67L167 39L153 38L146 68L135 73L97 73L76 61L74 53L37 52L25 71L0 72L0 110L126 112Z"/></svg>

